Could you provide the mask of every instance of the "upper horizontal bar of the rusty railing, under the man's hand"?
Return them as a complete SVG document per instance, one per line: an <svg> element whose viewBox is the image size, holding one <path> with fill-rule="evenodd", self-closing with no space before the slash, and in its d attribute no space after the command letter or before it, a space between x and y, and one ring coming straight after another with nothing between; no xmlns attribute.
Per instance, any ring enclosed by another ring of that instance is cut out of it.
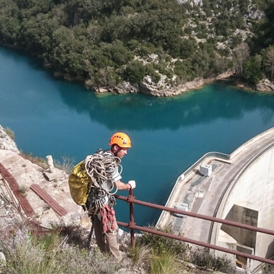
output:
<svg viewBox="0 0 274 274"><path fill-rule="evenodd" d="M155 203L148 203L146 201L140 201L140 200L137 200L137 199L132 199L130 197L124 197L124 196L121 196L121 195L114 195L114 196L116 197L116 199L127 201L127 203L136 203L140 206L148 206L149 208L156 208L158 210L166 210L166 211L169 211L169 212L184 214L186 216L191 216L191 217L195 217L195 218L198 218L198 219L214 221L214 222L217 222L217 223L223 223L225 225L232 225L234 227L240 227L240 228L249 229L249 230L256 231L256 232L262 232L264 234L274 235L274 231L270 230L270 229L264 229L264 228L260 228L260 227L253 227L252 225L246 225L244 223L238 223L238 222L234 222L234 221L223 220L223 219L215 218L215 217L212 217L212 216L207 216L207 215L203 215L203 214L188 212L188 211L184 211L184 210L176 210L175 208L168 208L166 206L160 206L160 205L157 205Z"/></svg>

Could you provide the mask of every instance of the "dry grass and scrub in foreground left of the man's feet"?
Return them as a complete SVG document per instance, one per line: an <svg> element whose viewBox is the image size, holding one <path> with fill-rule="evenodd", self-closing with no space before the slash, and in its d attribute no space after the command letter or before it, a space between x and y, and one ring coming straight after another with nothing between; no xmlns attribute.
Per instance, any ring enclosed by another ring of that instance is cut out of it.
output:
<svg viewBox="0 0 274 274"><path fill-rule="evenodd" d="M5 227L0 227L5 229ZM0 266L7 274L115 273L118 265L111 256L98 249L89 251L69 244L67 236L53 231L44 236L34 235L27 227L16 229L2 238L0 249L7 263Z"/></svg>

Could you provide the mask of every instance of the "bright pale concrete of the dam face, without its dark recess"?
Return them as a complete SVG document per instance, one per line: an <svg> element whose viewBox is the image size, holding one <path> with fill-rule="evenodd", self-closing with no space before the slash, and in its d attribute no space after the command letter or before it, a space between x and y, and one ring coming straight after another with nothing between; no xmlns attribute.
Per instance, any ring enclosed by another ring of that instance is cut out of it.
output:
<svg viewBox="0 0 274 274"><path fill-rule="evenodd" d="M274 230L274 147L264 152L236 179L223 206L221 219L229 215L234 205L258 211L258 227ZM219 230L216 243L219 245L223 241ZM274 237L258 232L255 255L271 258L274 255ZM260 262L251 262L251 269L258 264Z"/></svg>

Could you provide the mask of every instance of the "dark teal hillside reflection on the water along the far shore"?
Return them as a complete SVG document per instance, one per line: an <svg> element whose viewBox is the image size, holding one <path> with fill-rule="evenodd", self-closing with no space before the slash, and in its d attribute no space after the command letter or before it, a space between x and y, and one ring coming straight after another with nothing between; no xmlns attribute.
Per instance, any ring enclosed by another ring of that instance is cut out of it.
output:
<svg viewBox="0 0 274 274"><path fill-rule="evenodd" d="M260 110L262 123L273 118L273 95L242 92L222 83L206 86L173 98L147 95L104 95L97 97L76 90L73 96L61 88L64 103L78 113L88 113L92 121L109 129L179 129L222 119L240 119L251 110ZM113 118L113 119L112 119ZM114 123L115 122L115 123Z"/></svg>

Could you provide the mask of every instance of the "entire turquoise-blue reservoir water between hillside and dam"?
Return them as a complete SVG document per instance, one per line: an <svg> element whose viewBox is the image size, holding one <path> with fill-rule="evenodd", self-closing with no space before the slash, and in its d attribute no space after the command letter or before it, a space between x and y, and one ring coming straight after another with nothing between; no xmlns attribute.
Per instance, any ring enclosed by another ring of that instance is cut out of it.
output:
<svg viewBox="0 0 274 274"><path fill-rule="evenodd" d="M36 59L1 47L0 92L0 124L14 131L25 153L79 162L108 148L113 132L127 132L133 147L123 158L123 181L135 179L137 199L162 205L177 177L204 153L232 153L274 126L274 95L225 84L173 98L95 95L54 78ZM128 221L126 203L118 202L116 215ZM159 215L135 206L138 225Z"/></svg>

